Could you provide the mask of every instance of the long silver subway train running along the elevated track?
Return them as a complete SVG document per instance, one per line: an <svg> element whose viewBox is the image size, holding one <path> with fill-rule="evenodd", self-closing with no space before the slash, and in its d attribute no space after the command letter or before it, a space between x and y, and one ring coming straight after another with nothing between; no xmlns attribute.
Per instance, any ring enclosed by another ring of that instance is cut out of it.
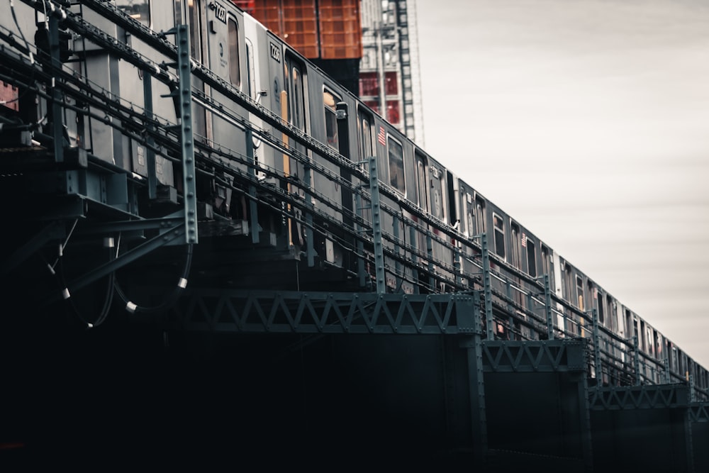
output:
<svg viewBox="0 0 709 473"><path fill-rule="evenodd" d="M294 274L283 268L299 265L298 289L362 291L379 283L380 290L410 294L472 291L481 289L481 256L487 251L496 338L548 336L540 315L546 276L555 336L590 338L593 313L597 316L605 360L603 373L594 374L598 382L691 377L699 392L708 393L706 369L669 338L230 2L15 0L11 9L0 20L4 48L19 51L24 62L28 51L33 51L31 61L41 57L41 48L32 43L47 34L48 18L62 12L69 18L60 23L62 67L80 78L69 89L101 90L140 112L113 116L111 110L81 104L80 94L63 92L67 146L125 173L131 197L122 201L121 212L134 218L177 209L184 198L177 137L165 131L151 142L145 127L167 130L180 123L174 97L178 78L169 66L175 40L164 32L189 25L201 223L216 222L222 230L244 223L249 230L234 237L242 242L236 246L251 251L267 243L259 266L271 274L265 282L255 281L249 272L256 270L254 260L205 260L200 267L196 259L194 272L205 281L295 289ZM103 32L108 42L79 28L80 20ZM121 57L118 48L135 54ZM33 90L32 81L13 80L11 71L0 69L7 84L0 138L4 133L3 139L11 140L13 127L22 128L21 144L50 146L40 128L51 118L47 91L43 95ZM148 74L155 79L152 91L145 87ZM140 111L149 102L155 120ZM149 152L155 152L160 199L145 196ZM200 227L201 242L210 236L206 228L215 227ZM217 251L218 245L211 248ZM635 347L640 372L632 374Z"/></svg>

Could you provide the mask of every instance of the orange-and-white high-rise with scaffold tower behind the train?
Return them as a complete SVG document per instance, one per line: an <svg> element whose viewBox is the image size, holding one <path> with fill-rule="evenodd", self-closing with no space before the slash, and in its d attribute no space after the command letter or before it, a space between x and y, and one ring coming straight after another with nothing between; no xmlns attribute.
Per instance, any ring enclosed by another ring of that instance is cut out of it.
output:
<svg viewBox="0 0 709 473"><path fill-rule="evenodd" d="M233 0L423 146L413 0Z"/></svg>

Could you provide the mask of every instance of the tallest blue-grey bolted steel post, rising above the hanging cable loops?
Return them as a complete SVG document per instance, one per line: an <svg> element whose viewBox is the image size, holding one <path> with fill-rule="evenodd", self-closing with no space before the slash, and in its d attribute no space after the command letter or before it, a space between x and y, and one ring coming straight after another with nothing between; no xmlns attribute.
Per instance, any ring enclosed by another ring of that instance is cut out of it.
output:
<svg viewBox="0 0 709 473"><path fill-rule="evenodd" d="M192 133L192 89L189 57L189 29L177 27L177 71L179 74L180 128L182 131L182 182L186 243L197 243L197 187Z"/></svg>

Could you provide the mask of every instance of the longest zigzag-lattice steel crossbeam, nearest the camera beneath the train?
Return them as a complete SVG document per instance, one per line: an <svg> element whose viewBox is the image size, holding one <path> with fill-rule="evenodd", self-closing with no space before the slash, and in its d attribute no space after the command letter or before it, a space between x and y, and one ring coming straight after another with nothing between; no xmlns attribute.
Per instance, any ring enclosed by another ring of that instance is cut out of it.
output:
<svg viewBox="0 0 709 473"><path fill-rule="evenodd" d="M475 333L468 294L195 289L174 307L186 330L245 333Z"/></svg>

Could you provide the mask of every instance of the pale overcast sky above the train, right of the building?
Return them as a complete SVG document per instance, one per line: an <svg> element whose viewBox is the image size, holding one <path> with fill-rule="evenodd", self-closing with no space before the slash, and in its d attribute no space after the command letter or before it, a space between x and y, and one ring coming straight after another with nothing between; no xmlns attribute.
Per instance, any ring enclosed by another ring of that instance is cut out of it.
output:
<svg viewBox="0 0 709 473"><path fill-rule="evenodd" d="M416 8L425 149L709 368L709 1Z"/></svg>

